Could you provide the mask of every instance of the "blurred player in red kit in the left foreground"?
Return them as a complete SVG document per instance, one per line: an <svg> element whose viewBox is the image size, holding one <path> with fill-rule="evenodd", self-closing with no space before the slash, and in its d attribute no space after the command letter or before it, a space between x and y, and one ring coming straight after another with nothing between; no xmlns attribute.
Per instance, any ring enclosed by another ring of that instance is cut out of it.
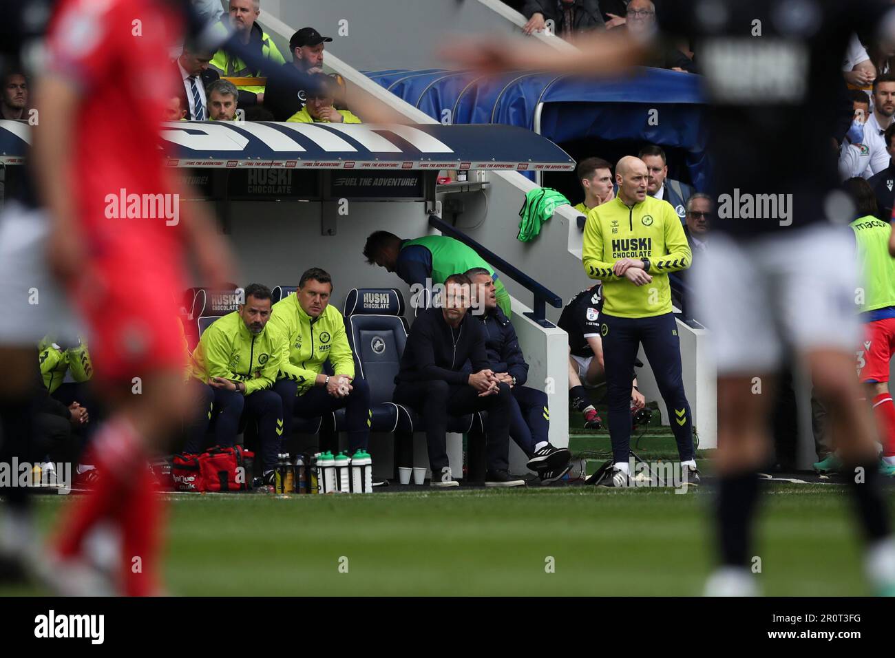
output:
<svg viewBox="0 0 895 658"><path fill-rule="evenodd" d="M48 32L34 159L52 218L49 261L89 325L95 379L114 410L84 459L98 483L66 510L53 551L63 593L90 592L81 547L100 521L122 536L120 591L158 592L160 510L147 459L190 407L175 306L186 249L209 284L232 278L224 240L198 204L180 205L158 148L182 5L62 0ZM122 195L141 200L135 213L122 215Z"/></svg>

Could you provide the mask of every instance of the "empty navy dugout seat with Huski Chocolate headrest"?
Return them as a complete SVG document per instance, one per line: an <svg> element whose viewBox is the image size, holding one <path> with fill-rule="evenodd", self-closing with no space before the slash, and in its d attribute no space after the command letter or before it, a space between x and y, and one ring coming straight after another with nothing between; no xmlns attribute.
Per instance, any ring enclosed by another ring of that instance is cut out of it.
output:
<svg viewBox="0 0 895 658"><path fill-rule="evenodd" d="M353 288L345 297L345 331L358 376L370 386L371 431L394 432L397 466L413 464L413 432L422 421L413 409L392 402L395 377L407 342L404 297L395 288ZM345 431L345 410L332 414L337 432ZM480 414L450 416L447 432L481 433Z"/></svg>

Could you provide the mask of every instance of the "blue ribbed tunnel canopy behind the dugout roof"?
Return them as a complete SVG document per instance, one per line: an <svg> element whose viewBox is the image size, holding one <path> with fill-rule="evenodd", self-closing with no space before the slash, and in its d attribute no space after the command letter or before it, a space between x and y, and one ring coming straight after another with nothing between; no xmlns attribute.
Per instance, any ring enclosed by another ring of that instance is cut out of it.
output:
<svg viewBox="0 0 895 658"><path fill-rule="evenodd" d="M707 183L701 76L653 68L600 80L518 72L486 78L431 69L366 74L441 123L534 130L542 103L540 133L550 141L628 139L684 149L696 189Z"/></svg>

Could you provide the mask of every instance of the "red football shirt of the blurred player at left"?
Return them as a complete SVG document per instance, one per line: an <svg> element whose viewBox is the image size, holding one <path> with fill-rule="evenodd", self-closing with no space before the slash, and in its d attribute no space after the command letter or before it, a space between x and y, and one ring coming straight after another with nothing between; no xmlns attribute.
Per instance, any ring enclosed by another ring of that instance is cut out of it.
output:
<svg viewBox="0 0 895 658"><path fill-rule="evenodd" d="M51 22L47 70L81 94L72 181L94 248L135 233L167 242L179 230L174 199L154 195L174 192L158 132L175 95L168 51L180 35L181 16L159 0L62 0Z"/></svg>

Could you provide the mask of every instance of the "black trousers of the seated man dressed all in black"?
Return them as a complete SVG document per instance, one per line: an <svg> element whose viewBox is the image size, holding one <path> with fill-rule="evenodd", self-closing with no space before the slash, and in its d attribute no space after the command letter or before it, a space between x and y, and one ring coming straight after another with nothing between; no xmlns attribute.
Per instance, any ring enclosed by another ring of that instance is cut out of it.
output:
<svg viewBox="0 0 895 658"><path fill-rule="evenodd" d="M507 384L499 385L499 392L479 397L472 386L451 386L444 380L402 381L395 387L392 400L397 405L409 406L420 414L426 428L429 464L434 474L440 474L447 463L447 416L488 412L485 427L485 451L488 470L506 471L509 467L509 422L512 391Z"/></svg>

